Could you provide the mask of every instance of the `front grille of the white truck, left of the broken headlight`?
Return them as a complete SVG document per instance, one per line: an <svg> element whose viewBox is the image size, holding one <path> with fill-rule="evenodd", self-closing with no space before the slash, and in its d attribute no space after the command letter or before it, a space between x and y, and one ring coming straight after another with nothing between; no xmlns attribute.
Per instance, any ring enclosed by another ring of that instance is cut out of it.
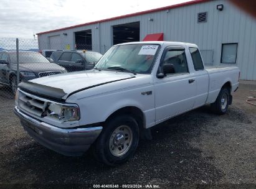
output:
<svg viewBox="0 0 256 189"><path fill-rule="evenodd" d="M47 107L46 101L42 101L42 99L36 98L34 95L21 90L19 90L18 103L21 109L39 117L44 116Z"/></svg>

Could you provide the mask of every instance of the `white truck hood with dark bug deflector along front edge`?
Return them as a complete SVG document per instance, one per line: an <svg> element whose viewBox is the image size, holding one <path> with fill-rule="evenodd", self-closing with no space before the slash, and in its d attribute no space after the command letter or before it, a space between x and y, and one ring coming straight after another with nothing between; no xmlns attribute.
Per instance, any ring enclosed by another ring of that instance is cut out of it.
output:
<svg viewBox="0 0 256 189"><path fill-rule="evenodd" d="M131 78L135 75L118 71L77 71L23 81L19 88L39 96L63 100L78 91Z"/></svg>

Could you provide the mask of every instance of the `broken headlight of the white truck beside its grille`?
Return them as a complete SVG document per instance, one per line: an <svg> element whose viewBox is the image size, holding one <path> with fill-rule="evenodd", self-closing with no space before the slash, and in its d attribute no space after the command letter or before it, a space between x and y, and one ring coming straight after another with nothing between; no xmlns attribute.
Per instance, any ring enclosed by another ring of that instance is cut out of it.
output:
<svg viewBox="0 0 256 189"><path fill-rule="evenodd" d="M80 119L79 108L75 104L64 106L62 104L50 103L47 116L57 118L61 121L77 121Z"/></svg>

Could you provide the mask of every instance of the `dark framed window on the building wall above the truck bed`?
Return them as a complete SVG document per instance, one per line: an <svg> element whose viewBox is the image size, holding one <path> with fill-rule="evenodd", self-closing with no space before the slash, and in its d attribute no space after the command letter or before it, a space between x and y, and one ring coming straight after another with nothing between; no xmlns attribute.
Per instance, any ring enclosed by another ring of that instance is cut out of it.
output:
<svg viewBox="0 0 256 189"><path fill-rule="evenodd" d="M220 63L237 62L237 44L222 44Z"/></svg>

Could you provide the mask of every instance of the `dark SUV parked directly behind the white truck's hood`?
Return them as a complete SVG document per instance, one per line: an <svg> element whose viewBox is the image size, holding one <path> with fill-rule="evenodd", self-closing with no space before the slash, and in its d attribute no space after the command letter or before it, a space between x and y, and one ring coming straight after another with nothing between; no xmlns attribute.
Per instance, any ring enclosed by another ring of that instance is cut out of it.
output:
<svg viewBox="0 0 256 189"><path fill-rule="evenodd" d="M101 53L83 50L56 50L50 58L67 71L91 70L102 57Z"/></svg>

